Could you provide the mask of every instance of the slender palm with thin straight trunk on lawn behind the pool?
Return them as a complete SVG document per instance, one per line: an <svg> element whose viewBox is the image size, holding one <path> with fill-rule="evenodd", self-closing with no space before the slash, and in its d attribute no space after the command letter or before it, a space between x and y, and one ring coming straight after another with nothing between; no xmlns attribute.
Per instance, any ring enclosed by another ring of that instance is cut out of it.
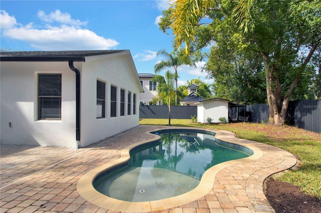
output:
<svg viewBox="0 0 321 213"><path fill-rule="evenodd" d="M174 90L175 74L170 70L167 70L165 73L165 77L163 75L154 75L151 80L153 82L158 82L158 94L165 92L169 95L169 125L171 125L171 93Z"/></svg>

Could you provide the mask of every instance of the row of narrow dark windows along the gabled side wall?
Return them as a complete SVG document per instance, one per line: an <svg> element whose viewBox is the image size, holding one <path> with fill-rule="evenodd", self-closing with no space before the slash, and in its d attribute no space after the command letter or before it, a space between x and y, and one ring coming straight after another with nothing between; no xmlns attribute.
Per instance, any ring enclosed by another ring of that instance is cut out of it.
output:
<svg viewBox="0 0 321 213"><path fill-rule="evenodd" d="M97 80L97 118L105 117L106 109L106 95L105 95L105 86L106 83L100 80ZM136 114L136 94L133 94L133 114ZM127 115L131 114L131 92L127 92ZM125 115L125 90L120 89L120 116ZM117 116L117 87L110 86L110 117Z"/></svg>

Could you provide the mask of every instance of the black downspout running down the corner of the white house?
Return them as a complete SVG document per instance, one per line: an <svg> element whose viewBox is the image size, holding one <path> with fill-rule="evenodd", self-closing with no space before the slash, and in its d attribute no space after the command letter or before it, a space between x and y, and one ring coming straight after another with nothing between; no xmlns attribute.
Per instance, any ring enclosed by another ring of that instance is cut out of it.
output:
<svg viewBox="0 0 321 213"><path fill-rule="evenodd" d="M69 68L76 73L76 148L80 147L80 71L69 60Z"/></svg>

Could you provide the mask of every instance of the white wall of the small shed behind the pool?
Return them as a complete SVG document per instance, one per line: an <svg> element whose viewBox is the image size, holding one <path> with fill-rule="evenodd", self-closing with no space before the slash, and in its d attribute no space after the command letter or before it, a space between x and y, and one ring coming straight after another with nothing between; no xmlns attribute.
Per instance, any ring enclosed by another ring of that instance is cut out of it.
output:
<svg viewBox="0 0 321 213"><path fill-rule="evenodd" d="M228 119L228 101L215 99L200 102L197 113L200 122L207 122L207 117L211 117L212 122L219 122L220 117Z"/></svg>

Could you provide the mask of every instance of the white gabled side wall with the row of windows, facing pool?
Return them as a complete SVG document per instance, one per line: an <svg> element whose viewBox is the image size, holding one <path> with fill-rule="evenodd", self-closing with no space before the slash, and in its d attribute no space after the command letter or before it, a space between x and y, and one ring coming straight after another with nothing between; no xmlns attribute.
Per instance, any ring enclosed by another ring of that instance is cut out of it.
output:
<svg viewBox="0 0 321 213"><path fill-rule="evenodd" d="M140 83L131 70L128 55L106 56L97 60L91 56L81 71L81 146L89 145L126 129L139 125ZM77 67L75 63L75 67ZM135 71L136 72L136 71ZM106 83L105 118L96 118L96 82ZM117 87L117 116L110 117L110 86ZM120 116L120 89L125 90L125 115ZM127 115L127 92L131 92L131 114ZM136 94L136 114L133 114L133 94Z"/></svg>

